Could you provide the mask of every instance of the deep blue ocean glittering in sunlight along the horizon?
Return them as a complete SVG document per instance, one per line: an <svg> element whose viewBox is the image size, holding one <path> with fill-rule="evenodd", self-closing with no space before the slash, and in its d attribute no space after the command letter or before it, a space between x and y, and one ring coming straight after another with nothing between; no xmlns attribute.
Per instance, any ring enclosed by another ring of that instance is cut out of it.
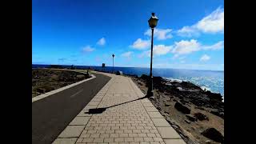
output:
<svg viewBox="0 0 256 144"><path fill-rule="evenodd" d="M32 68L49 67L50 65L36 65L32 64ZM64 68L70 66L62 65ZM75 66L77 69L93 68L94 70L112 71L112 66ZM121 70L123 74L135 74L141 76L142 74L150 74L150 68L140 67L114 67L114 71ZM153 76L161 76L166 79L173 79L177 81L192 82L202 89L210 90L214 93L222 94L224 97L224 71L214 70L184 70L184 69L162 69L154 68L152 70Z"/></svg>

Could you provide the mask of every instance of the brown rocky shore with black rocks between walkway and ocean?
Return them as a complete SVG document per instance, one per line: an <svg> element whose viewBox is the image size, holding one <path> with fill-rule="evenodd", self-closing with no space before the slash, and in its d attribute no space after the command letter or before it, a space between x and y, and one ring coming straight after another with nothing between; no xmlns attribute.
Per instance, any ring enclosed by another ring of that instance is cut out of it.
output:
<svg viewBox="0 0 256 144"><path fill-rule="evenodd" d="M146 94L149 77L129 75ZM150 101L186 143L224 142L224 102L221 94L202 90L190 82L154 77L154 97Z"/></svg>

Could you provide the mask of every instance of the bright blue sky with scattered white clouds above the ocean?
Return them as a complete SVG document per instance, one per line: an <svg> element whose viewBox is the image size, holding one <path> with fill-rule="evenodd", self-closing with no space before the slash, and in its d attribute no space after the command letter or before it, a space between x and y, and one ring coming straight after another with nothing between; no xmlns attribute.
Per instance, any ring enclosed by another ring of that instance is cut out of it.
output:
<svg viewBox="0 0 256 144"><path fill-rule="evenodd" d="M33 0L32 63L224 70L223 0Z"/></svg>

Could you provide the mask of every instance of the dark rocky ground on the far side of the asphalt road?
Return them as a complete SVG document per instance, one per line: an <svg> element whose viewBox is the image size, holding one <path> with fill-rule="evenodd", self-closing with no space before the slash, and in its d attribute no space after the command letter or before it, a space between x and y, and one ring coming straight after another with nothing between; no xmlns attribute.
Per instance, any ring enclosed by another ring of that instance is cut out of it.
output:
<svg viewBox="0 0 256 144"><path fill-rule="evenodd" d="M32 69L32 98L86 78L90 76L74 71Z"/></svg>

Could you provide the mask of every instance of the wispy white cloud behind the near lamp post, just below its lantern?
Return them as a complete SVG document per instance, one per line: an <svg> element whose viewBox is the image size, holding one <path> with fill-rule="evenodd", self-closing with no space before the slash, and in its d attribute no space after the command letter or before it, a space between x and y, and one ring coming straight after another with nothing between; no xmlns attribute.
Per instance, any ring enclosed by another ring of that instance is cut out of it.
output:
<svg viewBox="0 0 256 144"><path fill-rule="evenodd" d="M156 37L158 40L165 40L168 38L173 38L172 34L170 34L172 30L171 29L154 29L154 37ZM145 35L151 36L152 32L151 29L146 30L144 33Z"/></svg>

